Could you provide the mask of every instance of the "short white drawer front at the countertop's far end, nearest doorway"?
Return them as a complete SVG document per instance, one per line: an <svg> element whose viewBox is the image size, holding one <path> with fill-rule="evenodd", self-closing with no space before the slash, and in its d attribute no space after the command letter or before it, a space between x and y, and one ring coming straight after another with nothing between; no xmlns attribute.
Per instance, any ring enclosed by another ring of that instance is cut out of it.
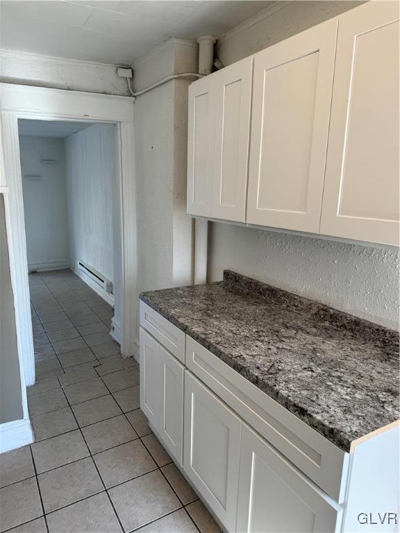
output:
<svg viewBox="0 0 400 533"><path fill-rule="evenodd" d="M185 362L185 333L142 301L140 301L140 325L179 361Z"/></svg>

